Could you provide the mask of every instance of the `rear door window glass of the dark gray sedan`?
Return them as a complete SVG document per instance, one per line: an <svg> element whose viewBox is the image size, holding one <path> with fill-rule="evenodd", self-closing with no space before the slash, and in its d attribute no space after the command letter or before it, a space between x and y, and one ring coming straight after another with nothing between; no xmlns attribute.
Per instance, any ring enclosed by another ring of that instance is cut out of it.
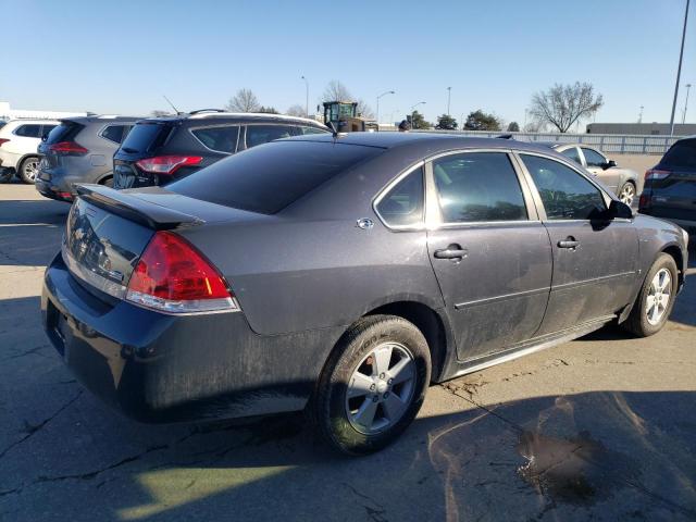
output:
<svg viewBox="0 0 696 522"><path fill-rule="evenodd" d="M445 223L527 219L518 175L505 152L469 152L433 161Z"/></svg>

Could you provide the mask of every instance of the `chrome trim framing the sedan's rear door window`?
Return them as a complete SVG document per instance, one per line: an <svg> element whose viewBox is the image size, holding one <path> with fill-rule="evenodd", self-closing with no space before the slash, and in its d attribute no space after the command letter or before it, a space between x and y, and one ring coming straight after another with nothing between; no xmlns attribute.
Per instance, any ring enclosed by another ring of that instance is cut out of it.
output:
<svg viewBox="0 0 696 522"><path fill-rule="evenodd" d="M455 222L444 222L443 221L443 212L438 203L437 198L437 186L435 185L435 177L433 173L433 162L440 158L445 158L447 156L456 156L456 154L469 154L476 152L497 152L501 154L506 154L508 157L508 161L510 161L510 166L514 171L514 174L518 178L518 184L520 186L520 191L522 192L522 199L524 201L524 208L526 210L526 219L524 220L501 220L501 221L455 221ZM476 148L476 149L457 149L457 150L448 150L446 152L440 152L435 156L430 157L427 160L426 173L432 185L431 190L431 199L434 200L430 212L432 215L428 215L426 219L426 223L428 224L428 229L437 229L437 228L472 228L472 227L490 227L490 226L510 226L512 224L520 223L535 223L539 224L538 214L536 212L535 202L532 198L532 194L527 194L529 187L525 187L526 179L521 175L522 173L518 169L518 164L512 153L511 149L497 149L497 148ZM526 190L525 190L526 189ZM531 192L531 190L530 190Z"/></svg>

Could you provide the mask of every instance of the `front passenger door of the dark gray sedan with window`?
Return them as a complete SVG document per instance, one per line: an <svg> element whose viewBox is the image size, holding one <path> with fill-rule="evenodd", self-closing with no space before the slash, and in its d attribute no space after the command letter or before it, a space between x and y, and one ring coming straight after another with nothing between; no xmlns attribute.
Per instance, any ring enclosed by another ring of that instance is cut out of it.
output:
<svg viewBox="0 0 696 522"><path fill-rule="evenodd" d="M538 191L554 249L554 278L539 335L602 320L631 301L637 232L631 220L607 220L607 197L580 172L520 154Z"/></svg>

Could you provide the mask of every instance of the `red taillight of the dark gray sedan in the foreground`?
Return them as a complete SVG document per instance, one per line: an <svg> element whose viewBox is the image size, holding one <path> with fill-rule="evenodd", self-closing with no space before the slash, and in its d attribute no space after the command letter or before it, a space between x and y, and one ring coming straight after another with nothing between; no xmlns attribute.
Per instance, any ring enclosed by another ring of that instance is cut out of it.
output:
<svg viewBox="0 0 696 522"><path fill-rule="evenodd" d="M126 300L170 313L239 310L217 270L191 244L158 232L136 265Z"/></svg>

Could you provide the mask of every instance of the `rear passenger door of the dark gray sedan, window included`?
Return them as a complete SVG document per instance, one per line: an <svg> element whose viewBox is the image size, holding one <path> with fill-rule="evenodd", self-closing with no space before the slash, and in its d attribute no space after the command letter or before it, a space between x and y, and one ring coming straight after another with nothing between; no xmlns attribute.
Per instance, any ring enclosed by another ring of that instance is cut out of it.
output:
<svg viewBox="0 0 696 522"><path fill-rule="evenodd" d="M437 202L428 208L428 221L436 215L428 253L458 358L490 356L533 337L548 300L551 248L509 154L444 156L428 176Z"/></svg>

